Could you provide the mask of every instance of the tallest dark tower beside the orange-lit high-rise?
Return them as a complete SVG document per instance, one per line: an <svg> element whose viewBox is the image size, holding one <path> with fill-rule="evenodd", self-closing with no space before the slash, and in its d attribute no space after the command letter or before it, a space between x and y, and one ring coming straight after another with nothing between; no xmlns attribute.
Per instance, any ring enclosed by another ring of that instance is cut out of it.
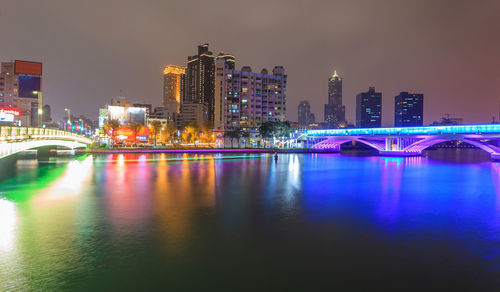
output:
<svg viewBox="0 0 500 292"><path fill-rule="evenodd" d="M198 46L198 54L188 57L181 113L185 125L214 121L215 56L208 44Z"/></svg>

